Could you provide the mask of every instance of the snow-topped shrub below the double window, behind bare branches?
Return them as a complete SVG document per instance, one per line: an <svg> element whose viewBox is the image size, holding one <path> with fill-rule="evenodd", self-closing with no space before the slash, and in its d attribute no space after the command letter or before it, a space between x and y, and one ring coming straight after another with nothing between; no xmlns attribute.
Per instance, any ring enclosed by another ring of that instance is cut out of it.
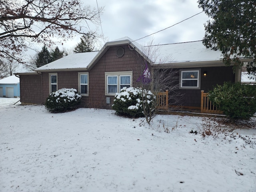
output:
<svg viewBox="0 0 256 192"><path fill-rule="evenodd" d="M120 93L116 93L112 108L116 110L118 115L144 117L145 106L148 106L146 110L150 110L150 107L154 105L154 99L155 96L150 90L124 87Z"/></svg>

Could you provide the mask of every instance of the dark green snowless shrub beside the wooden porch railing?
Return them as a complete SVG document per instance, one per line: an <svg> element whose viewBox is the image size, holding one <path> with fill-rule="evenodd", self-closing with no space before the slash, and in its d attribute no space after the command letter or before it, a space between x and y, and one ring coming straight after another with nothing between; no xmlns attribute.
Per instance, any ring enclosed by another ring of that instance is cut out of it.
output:
<svg viewBox="0 0 256 192"><path fill-rule="evenodd" d="M250 118L256 113L256 85L224 82L209 92L209 100L229 118Z"/></svg>

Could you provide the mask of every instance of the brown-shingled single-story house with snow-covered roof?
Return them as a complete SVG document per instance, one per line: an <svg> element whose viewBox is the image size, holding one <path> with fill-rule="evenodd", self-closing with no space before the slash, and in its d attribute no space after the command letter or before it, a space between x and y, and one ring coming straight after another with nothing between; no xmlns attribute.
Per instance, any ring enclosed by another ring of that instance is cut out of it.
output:
<svg viewBox="0 0 256 192"><path fill-rule="evenodd" d="M124 86L137 85L144 62L152 72L178 71L178 91L183 95L180 105L187 108L200 109L201 90L211 90L224 81L241 80L240 68L234 71L232 66L225 66L221 52L206 49L202 41L151 47L159 53L154 60L146 54L148 46L124 37L107 42L100 51L70 54L34 72L17 73L20 102L44 104L51 92L76 88L82 95L81 107L111 109L116 92Z"/></svg>

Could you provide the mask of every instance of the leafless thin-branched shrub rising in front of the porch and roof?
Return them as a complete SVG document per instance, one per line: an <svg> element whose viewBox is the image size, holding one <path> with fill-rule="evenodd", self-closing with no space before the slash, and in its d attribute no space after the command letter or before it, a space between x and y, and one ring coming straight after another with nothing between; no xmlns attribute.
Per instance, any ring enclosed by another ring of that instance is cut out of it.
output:
<svg viewBox="0 0 256 192"><path fill-rule="evenodd" d="M171 58L161 58L159 48L160 45L152 46L153 40L148 43L147 46L141 46L142 54L136 52L135 58L138 63L141 64L140 69L138 71L141 72L140 78L137 80L137 87L142 88L142 95L147 96L148 92L151 91L155 96L158 95L159 92L164 92L168 90L170 95L168 96L169 106L178 105L178 102L182 98L182 94L178 92L179 88L179 71L173 68L162 68L154 66L156 60L160 60L159 66L165 62L170 62ZM150 121L154 118L155 111L158 109L157 100L155 100L154 104L148 104L146 100L148 98L142 97L143 101L143 109L146 121L150 123ZM155 98L156 99L156 98Z"/></svg>

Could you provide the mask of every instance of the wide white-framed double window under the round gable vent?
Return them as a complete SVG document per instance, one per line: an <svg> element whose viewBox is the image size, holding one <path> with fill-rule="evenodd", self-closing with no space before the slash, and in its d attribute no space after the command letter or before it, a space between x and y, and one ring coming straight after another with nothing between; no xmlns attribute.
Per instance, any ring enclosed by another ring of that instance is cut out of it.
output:
<svg viewBox="0 0 256 192"><path fill-rule="evenodd" d="M115 95L124 87L132 86L132 71L105 72L105 95Z"/></svg>

